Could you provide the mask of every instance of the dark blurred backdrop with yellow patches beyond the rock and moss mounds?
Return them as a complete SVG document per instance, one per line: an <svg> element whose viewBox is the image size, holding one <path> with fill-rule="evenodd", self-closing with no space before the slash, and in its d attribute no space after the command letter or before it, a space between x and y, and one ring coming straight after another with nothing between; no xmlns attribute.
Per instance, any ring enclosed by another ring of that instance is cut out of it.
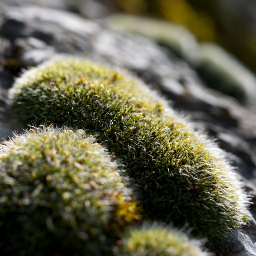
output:
<svg viewBox="0 0 256 256"><path fill-rule="evenodd" d="M7 4L38 4L100 18L127 12L179 23L200 42L214 42L256 72L255 0L0 0Z"/></svg>

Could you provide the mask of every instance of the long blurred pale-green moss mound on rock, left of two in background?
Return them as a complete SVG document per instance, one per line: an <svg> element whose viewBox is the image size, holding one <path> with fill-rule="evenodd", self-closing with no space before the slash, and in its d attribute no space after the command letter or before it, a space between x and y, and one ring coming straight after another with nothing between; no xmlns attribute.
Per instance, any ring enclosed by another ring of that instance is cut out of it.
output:
<svg viewBox="0 0 256 256"><path fill-rule="evenodd" d="M110 15L105 18L105 22L109 28L152 38L189 62L194 62L196 58L198 50L196 38L180 24L125 13Z"/></svg>

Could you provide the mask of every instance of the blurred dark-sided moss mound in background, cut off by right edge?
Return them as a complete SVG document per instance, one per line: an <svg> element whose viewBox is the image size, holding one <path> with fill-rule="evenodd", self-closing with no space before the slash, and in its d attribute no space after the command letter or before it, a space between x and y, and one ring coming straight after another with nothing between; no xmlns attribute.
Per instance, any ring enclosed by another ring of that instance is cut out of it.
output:
<svg viewBox="0 0 256 256"><path fill-rule="evenodd" d="M216 44L200 44L196 70L209 87L241 102L255 94L256 77Z"/></svg>

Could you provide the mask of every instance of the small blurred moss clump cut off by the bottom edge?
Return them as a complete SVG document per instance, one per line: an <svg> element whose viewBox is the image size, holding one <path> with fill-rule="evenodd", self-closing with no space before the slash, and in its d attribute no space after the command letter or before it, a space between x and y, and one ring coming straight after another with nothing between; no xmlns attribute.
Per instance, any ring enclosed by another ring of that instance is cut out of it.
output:
<svg viewBox="0 0 256 256"><path fill-rule="evenodd" d="M157 223L129 228L121 240L118 256L206 256L202 241L189 240L180 231Z"/></svg>

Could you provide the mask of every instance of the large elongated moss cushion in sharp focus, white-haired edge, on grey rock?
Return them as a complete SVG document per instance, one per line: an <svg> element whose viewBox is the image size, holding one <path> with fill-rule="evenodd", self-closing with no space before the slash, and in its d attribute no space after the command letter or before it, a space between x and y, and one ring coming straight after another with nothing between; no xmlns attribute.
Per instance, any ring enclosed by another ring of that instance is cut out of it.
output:
<svg viewBox="0 0 256 256"><path fill-rule="evenodd" d="M224 152L146 86L87 61L34 69L12 91L20 122L88 129L126 165L152 219L188 225L218 248L245 216L244 193Z"/></svg>

